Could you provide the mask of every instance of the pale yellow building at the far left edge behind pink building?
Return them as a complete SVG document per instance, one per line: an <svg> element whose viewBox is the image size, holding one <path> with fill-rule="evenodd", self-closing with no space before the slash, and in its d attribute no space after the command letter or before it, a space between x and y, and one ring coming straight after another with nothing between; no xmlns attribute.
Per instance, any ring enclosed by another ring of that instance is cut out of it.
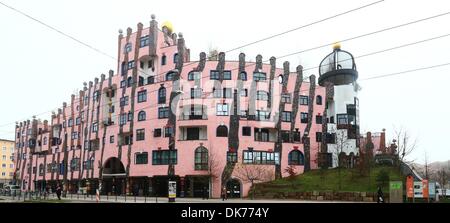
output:
<svg viewBox="0 0 450 223"><path fill-rule="evenodd" d="M0 139L0 184L9 183L14 176L14 141Z"/></svg>

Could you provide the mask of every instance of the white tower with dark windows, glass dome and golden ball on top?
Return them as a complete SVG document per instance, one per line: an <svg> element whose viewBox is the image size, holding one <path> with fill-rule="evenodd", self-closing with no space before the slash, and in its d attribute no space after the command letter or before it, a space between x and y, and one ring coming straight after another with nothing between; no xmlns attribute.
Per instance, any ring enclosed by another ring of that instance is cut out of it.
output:
<svg viewBox="0 0 450 223"><path fill-rule="evenodd" d="M321 147L324 166L353 167L359 156L359 85L353 56L339 44L320 63L319 85L326 88Z"/></svg>

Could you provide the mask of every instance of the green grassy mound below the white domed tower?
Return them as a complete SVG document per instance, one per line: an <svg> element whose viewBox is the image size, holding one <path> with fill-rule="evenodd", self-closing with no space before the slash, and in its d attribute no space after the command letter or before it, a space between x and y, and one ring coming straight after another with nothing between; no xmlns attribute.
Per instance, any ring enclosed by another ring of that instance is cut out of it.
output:
<svg viewBox="0 0 450 223"><path fill-rule="evenodd" d="M268 183L258 184L258 192L306 192L306 191L346 191L346 192L376 192L378 183L376 176L380 170L389 173L390 180L402 180L399 170L393 167L372 167L369 176L361 176L358 169L341 169L341 187L339 188L339 171L312 170L293 179L283 178ZM389 191L389 186L382 187Z"/></svg>

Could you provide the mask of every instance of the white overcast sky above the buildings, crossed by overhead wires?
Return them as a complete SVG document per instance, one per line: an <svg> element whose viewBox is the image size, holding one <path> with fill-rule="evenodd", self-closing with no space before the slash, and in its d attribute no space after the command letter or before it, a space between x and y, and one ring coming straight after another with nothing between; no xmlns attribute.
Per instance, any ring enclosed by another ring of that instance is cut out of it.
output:
<svg viewBox="0 0 450 223"><path fill-rule="evenodd" d="M135 31L137 23L149 26L155 14L161 25L172 22L184 34L192 60L210 47L227 51L376 0L315 1L186 1L186 0L0 0L66 32L91 46L117 55L118 30ZM226 55L248 60L257 54L263 60L332 43L390 26L450 11L448 0L385 0L359 11L273 38ZM34 114L50 117L50 111L68 102L70 95L93 81L116 61L74 42L17 12L0 5L0 138L14 139L15 121ZM342 49L355 57L374 51L450 33L450 15L403 28L343 42ZM356 58L362 90L361 132L403 126L419 140L409 157L424 161L450 159L450 66L362 81L376 75L400 72L450 62L450 37L440 38L386 53ZM316 67L332 47L279 59L304 68ZM280 66L281 67L281 66ZM306 75L318 70L306 71ZM447 101L447 102L446 102ZM5 125L8 124L9 125Z"/></svg>

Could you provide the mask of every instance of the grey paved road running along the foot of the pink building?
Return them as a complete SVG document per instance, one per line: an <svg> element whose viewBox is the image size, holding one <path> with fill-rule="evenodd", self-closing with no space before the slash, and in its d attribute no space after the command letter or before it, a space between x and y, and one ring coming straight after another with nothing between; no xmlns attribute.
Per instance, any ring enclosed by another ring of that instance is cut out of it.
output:
<svg viewBox="0 0 450 223"><path fill-rule="evenodd" d="M56 200L56 197L50 196L50 200ZM95 196L86 195L69 195L66 198L62 198L68 203L95 203ZM28 198L27 198L28 200ZM39 199L35 200L39 201ZM0 196L1 202L23 202L23 197L18 200L17 197L12 199L11 197ZM101 203L168 203L166 197L115 197L115 196L101 196ZM250 200L250 199L228 199L222 201L222 199L208 199L202 200L201 198L177 198L176 203L342 203L341 201L306 201L306 200Z"/></svg>

